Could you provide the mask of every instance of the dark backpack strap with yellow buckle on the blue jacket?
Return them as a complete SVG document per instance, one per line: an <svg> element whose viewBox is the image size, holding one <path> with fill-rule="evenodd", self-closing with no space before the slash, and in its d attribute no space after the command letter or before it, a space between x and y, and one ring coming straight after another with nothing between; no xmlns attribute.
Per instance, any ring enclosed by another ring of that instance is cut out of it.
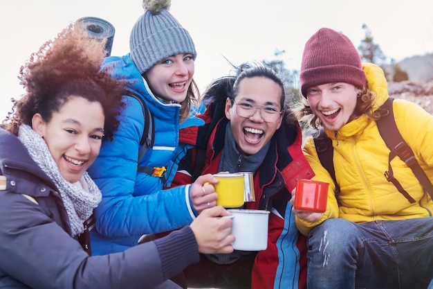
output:
<svg viewBox="0 0 433 289"><path fill-rule="evenodd" d="M151 175L153 177L160 177L163 184L165 184L165 171L167 168L163 167L151 167L151 166L140 166L140 160L145 156L148 148L154 146L155 139L155 126L154 126L154 116L151 114L149 107L147 107L145 100L143 100L140 96L136 94L130 95L132 98L138 100L142 108L142 114L145 118L145 128L143 128L142 136L140 139L140 150L138 150L137 157L137 171L140 173L147 173L147 175Z"/></svg>

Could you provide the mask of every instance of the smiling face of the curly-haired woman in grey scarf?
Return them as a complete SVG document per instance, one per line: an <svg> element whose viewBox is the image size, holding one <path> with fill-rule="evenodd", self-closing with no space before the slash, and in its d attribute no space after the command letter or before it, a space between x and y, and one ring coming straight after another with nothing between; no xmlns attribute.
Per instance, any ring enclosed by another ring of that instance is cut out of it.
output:
<svg viewBox="0 0 433 289"><path fill-rule="evenodd" d="M35 114L32 127L44 138L60 173L77 182L99 154L104 134L104 111L98 102L70 96L59 112L45 122Z"/></svg>

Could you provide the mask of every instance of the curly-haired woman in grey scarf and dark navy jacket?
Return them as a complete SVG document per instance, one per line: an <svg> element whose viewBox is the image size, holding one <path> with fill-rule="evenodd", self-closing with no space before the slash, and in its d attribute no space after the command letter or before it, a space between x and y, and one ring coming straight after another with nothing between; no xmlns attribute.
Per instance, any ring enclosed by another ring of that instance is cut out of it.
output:
<svg viewBox="0 0 433 289"><path fill-rule="evenodd" d="M104 42L71 24L21 68L26 94L0 128L0 288L178 288L165 280L199 251L233 250L231 220L212 218L228 212L214 207L165 238L90 256L86 224L101 193L86 170L127 94L100 69L104 55Z"/></svg>

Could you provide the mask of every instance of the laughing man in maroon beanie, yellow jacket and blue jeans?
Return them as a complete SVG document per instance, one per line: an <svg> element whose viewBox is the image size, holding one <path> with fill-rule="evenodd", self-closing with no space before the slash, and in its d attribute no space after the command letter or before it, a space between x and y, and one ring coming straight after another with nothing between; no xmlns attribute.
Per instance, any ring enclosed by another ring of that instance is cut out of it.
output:
<svg viewBox="0 0 433 289"><path fill-rule="evenodd" d="M335 171L334 182L313 137L307 139L304 155L313 179L330 184L324 213L293 209L297 227L308 236L308 289L427 288L433 277L433 202L411 168L391 158L378 130L378 108L388 99L383 70L361 64L349 38L322 28L306 42L300 80L306 101L298 117L331 139ZM431 182L433 116L405 100L391 105L387 112L394 112ZM384 172L394 172L400 188Z"/></svg>

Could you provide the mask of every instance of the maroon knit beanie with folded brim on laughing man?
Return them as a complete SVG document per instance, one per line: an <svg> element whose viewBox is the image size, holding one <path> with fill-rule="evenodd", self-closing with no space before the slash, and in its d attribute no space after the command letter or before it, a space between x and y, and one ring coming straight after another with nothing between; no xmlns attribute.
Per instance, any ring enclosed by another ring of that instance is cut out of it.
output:
<svg viewBox="0 0 433 289"><path fill-rule="evenodd" d="M316 85L346 82L362 88L367 84L355 46L347 36L329 28L320 28L306 42L300 80L304 97Z"/></svg>

